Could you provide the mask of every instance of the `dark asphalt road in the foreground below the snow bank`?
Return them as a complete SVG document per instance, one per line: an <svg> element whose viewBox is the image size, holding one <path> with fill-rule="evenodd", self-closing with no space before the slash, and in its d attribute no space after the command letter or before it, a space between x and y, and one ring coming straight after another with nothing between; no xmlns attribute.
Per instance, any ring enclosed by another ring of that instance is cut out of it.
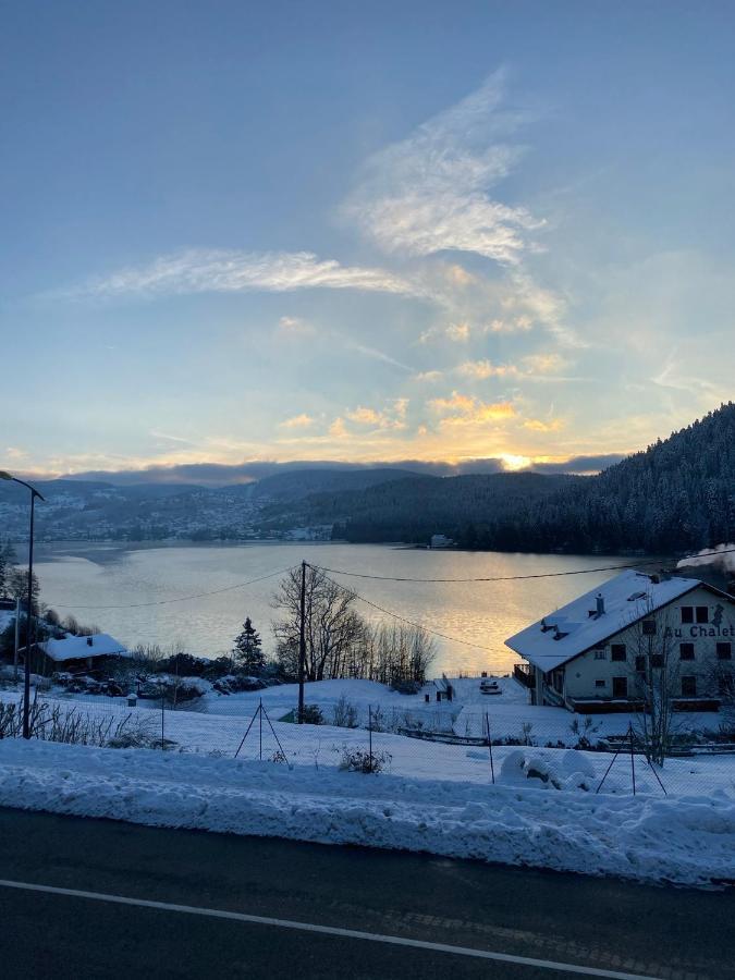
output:
<svg viewBox="0 0 735 980"><path fill-rule="evenodd" d="M0 879L3 978L735 978L732 891L8 809Z"/></svg>

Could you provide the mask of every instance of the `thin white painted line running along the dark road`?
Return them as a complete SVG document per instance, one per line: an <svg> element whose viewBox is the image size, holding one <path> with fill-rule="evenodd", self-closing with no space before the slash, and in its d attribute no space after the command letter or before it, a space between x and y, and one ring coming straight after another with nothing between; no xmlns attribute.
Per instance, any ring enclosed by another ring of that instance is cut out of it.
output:
<svg viewBox="0 0 735 980"><path fill-rule="evenodd" d="M33 884L26 881L9 881L0 879L0 887L16 889L23 892L42 892L48 895L66 895L71 898L88 898L94 902L108 902L114 905L132 905L138 908L156 908L162 911L183 912L188 916L206 916L212 919L229 919L234 922L247 922L253 926L272 926L279 929L295 929L301 932L317 932L322 935L336 935L342 939L366 940L372 943L384 943L392 946L408 946L415 950L428 950L432 953L451 953L455 956L471 956L475 959L493 959L500 963L514 963L518 966L536 967L542 970L558 970L567 973L581 973L585 977L609 977L611 980L660 980L644 973L625 973L618 970L601 970L597 967L578 966L573 963L555 963L552 959L535 959L530 956L515 956L512 953L495 953L489 950L475 950L471 946L452 946L448 943L430 943L425 940L406 939L401 935L383 935L379 932L362 932L357 929L341 929L338 926L318 926L314 922L297 922L293 919L274 919L270 916L253 916L247 912L226 911L219 908L199 908L194 905L176 905L171 902L155 902L150 898L127 898L124 895L108 895L105 892L85 892L79 889L60 889L56 885Z"/></svg>

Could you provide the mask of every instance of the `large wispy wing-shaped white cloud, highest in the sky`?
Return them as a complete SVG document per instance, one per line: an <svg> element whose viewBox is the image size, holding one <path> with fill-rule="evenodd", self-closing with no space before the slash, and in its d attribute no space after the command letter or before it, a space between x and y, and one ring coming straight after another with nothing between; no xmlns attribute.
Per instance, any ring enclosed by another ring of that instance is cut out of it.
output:
<svg viewBox="0 0 735 980"><path fill-rule="evenodd" d="M512 171L520 147L504 142L525 120L501 111L503 73L375 154L343 207L387 253L428 256L453 249L515 265L526 233L540 226L523 207L488 192Z"/></svg>

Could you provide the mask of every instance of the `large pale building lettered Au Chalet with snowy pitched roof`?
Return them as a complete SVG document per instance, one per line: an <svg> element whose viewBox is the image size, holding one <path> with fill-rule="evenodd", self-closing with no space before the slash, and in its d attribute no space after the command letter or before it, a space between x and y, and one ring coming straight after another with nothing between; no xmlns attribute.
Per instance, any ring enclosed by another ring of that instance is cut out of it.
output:
<svg viewBox="0 0 735 980"><path fill-rule="evenodd" d="M639 710L646 672L665 669L675 708L718 710L735 686L735 599L699 579L626 571L505 645L526 661L514 675L535 705Z"/></svg>

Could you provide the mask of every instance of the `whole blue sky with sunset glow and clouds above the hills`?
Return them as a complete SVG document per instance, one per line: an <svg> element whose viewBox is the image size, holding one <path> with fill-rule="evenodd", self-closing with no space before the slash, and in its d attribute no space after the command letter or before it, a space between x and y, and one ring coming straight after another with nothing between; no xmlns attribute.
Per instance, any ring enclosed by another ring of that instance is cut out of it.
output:
<svg viewBox="0 0 735 980"><path fill-rule="evenodd" d="M732 397L732 3L0 11L0 466L593 469Z"/></svg>

